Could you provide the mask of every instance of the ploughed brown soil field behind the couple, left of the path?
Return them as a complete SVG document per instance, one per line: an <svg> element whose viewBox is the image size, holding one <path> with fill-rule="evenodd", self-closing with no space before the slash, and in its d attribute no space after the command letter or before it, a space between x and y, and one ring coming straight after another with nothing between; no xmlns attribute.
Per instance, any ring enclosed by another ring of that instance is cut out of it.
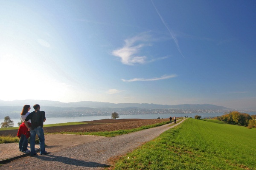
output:
<svg viewBox="0 0 256 170"><path fill-rule="evenodd" d="M145 125L166 122L169 119L102 119L85 121L83 125L44 127L45 133L55 132L99 132L134 129ZM17 130L0 130L0 136L17 136Z"/></svg>

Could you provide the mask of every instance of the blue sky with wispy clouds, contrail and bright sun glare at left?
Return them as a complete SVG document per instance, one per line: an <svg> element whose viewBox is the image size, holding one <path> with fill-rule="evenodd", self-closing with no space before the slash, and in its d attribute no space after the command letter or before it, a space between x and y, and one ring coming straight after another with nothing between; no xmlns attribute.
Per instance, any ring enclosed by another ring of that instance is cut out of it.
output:
<svg viewBox="0 0 256 170"><path fill-rule="evenodd" d="M0 100L256 107L255 0L0 0Z"/></svg>

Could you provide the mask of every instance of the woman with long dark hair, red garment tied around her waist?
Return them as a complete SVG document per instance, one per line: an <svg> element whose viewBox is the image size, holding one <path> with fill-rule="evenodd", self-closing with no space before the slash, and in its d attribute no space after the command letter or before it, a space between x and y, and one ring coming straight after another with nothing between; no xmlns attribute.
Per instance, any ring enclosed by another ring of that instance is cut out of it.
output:
<svg viewBox="0 0 256 170"><path fill-rule="evenodd" d="M30 136L30 133L28 131L28 128L26 127L24 121L26 117L29 115L30 105L24 105L23 109L20 113L20 117L22 119L22 124L19 127L17 136L20 138L19 141L19 148L21 152L29 153L30 150L28 149L28 138ZM28 121L28 125L31 126L30 120Z"/></svg>

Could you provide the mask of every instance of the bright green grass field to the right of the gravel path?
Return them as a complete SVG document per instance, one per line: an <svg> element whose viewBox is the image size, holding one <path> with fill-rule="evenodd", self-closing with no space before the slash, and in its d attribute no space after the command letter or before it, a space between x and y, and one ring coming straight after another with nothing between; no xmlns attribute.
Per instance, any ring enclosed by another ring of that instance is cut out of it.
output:
<svg viewBox="0 0 256 170"><path fill-rule="evenodd" d="M119 159L114 170L256 170L256 128L187 119Z"/></svg>

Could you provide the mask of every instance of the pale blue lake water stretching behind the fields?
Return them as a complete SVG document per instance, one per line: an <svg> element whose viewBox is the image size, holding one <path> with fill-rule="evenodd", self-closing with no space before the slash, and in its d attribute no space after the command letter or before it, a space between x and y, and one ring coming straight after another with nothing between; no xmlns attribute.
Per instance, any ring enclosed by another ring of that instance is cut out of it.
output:
<svg viewBox="0 0 256 170"><path fill-rule="evenodd" d="M132 115L119 115L118 119L160 119L169 118L170 116L176 117L192 117L195 115L202 116L202 118L222 116L224 113L174 113L174 114L132 114ZM75 117L47 117L44 125L55 124L55 123L67 123L67 122L82 122L90 120L101 120L101 119L111 119L111 115L107 116L75 116ZM18 127L17 123L20 119L11 119L14 122L14 127ZM1 121L0 121L1 122ZM3 122L3 121L2 121Z"/></svg>

